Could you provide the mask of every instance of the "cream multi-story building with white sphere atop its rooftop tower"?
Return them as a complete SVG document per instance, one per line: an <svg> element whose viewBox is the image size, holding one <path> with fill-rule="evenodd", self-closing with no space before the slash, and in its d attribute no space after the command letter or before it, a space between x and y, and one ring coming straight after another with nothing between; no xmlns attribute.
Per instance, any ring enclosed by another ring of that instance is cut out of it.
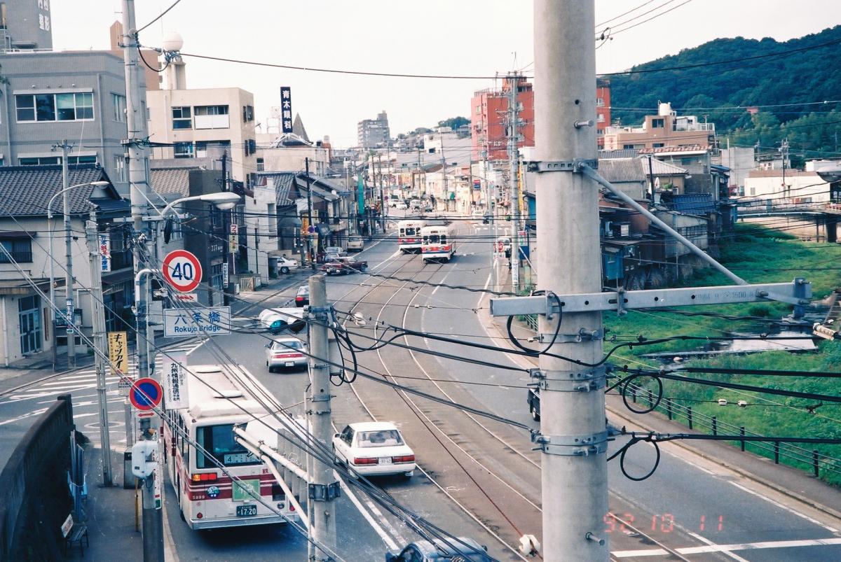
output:
<svg viewBox="0 0 841 562"><path fill-rule="evenodd" d="M188 89L181 61L172 63L167 87L146 93L151 157L214 158L228 154L230 176L251 184L257 172L254 95L238 87Z"/></svg>

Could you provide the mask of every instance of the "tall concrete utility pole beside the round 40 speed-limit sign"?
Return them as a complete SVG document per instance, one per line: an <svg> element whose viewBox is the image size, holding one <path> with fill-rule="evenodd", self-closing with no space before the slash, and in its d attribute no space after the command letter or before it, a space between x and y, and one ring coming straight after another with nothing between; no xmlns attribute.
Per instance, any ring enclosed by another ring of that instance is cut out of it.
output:
<svg viewBox="0 0 841 562"><path fill-rule="evenodd" d="M138 67L139 47L137 45L134 0L123 0L123 60L125 66L125 116L128 127L128 138L124 144L128 150L128 168L131 197L131 218L135 236L135 279L137 274L145 269L145 255L151 255L151 228L146 221L149 200L149 181L146 176L148 159L145 151L146 115L145 100L140 88L140 68ZM148 315L148 283L146 276L140 275L135 283L135 320L137 329L137 374L139 377L154 374L154 355L149 352L149 338L147 338ZM160 378L156 376L156 378ZM160 428L161 420L143 418L140 422L141 432L148 438ZM126 428L126 433L131 428ZM159 457L161 455L158 455ZM162 503L155 502L156 479L163 475L162 458L158 459L155 473L147 477L143 486L143 559L145 562L163 562L163 511ZM158 485L161 482L157 483Z"/></svg>

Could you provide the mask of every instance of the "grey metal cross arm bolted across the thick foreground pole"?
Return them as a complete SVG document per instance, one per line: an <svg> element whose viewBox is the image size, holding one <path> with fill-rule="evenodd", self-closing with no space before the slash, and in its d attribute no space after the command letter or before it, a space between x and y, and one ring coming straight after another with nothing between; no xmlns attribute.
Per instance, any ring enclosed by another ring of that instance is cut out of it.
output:
<svg viewBox="0 0 841 562"><path fill-rule="evenodd" d="M558 295L564 313L593 313L640 308L686 307L701 304L778 301L803 307L812 297L812 285L801 278L790 283L726 285L652 289L646 291L595 292L579 295ZM509 297L490 299L492 316L521 314L557 314L555 297Z"/></svg>

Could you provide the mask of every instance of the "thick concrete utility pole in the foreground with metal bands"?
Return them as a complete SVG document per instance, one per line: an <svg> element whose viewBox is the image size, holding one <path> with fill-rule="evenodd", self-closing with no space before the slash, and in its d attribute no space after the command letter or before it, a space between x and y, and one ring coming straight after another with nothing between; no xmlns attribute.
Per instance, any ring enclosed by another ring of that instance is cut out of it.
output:
<svg viewBox="0 0 841 562"><path fill-rule="evenodd" d="M576 121L595 115L595 8L592 0L536 0L535 149L542 162L595 159L595 129ZM599 292L598 188L583 174L537 174L537 274L541 289L557 294ZM557 248L557 251L553 249ZM540 317L551 338L558 315ZM563 314L563 334L601 333L600 313ZM601 339L558 343L554 354L587 363L600 360ZM543 559L607 560L602 517L607 512L606 454L580 444L606 439L604 370L541 355L543 445ZM590 378L591 377L591 378ZM584 381L593 390L576 390ZM587 454L583 454L586 451ZM579 454L574 454L578 452Z"/></svg>

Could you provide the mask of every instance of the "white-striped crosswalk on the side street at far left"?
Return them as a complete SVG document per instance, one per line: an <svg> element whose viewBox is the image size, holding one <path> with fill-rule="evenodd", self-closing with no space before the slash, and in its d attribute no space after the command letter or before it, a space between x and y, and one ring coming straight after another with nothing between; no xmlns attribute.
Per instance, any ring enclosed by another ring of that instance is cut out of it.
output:
<svg viewBox="0 0 841 562"><path fill-rule="evenodd" d="M167 351L186 351L188 354L198 349L203 342L190 342L168 348ZM155 368L160 370L163 355L155 357ZM130 361L129 372L134 374L135 362ZM111 444L125 444L124 409L125 391L118 386L119 376L106 376L106 402L108 402L109 433ZM66 375L47 378L8 394L0 399L0 427L15 423L31 423L34 418L47 411L60 394L73 397L73 419L77 428L85 433L94 443L99 441L97 372L93 367L74 370ZM21 408L24 406L24 408ZM22 411L23 409L23 411ZM33 418L33 419L30 419Z"/></svg>

